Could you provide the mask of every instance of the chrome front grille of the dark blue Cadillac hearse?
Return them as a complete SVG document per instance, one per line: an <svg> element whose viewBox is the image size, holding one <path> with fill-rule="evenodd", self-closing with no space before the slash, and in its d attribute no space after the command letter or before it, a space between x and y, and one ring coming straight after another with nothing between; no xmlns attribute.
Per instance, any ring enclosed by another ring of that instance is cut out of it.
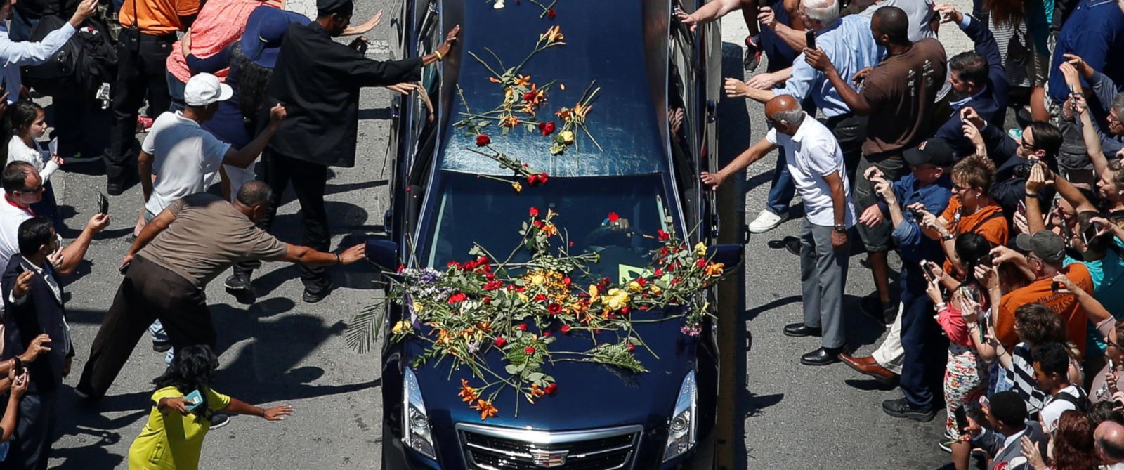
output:
<svg viewBox="0 0 1124 470"><path fill-rule="evenodd" d="M641 437L644 433L644 426L617 426L617 427L606 427L600 430L588 430L588 431L563 431L563 432L550 432L550 431L536 431L536 430L520 430L514 427L495 427L495 426L481 426L478 424L469 423L457 423L453 428L456 431L456 439L461 444L461 448L465 450L464 458L468 464L475 466L475 468L481 470L499 470L488 464L477 463L472 459L472 453L469 448L478 449L484 452L491 452L493 454L506 455L510 458L525 458L532 459L533 455L520 452L504 451L499 449L492 449L480 444L470 444L464 442L464 433L473 433L487 437L496 437L515 442L523 442L527 444L538 444L538 445L550 445L550 444L568 444L568 443L579 443L586 441L595 441L599 439L617 437L622 435L632 434L632 443L628 445L616 446L613 449L602 449L597 451L583 452L580 454L572 454L569 459L586 459L595 457L602 453L609 452L620 452L628 451L625 455L625 461L622 464L606 468L602 470L620 470L620 469L632 469L635 467L636 457L640 454L640 443Z"/></svg>

